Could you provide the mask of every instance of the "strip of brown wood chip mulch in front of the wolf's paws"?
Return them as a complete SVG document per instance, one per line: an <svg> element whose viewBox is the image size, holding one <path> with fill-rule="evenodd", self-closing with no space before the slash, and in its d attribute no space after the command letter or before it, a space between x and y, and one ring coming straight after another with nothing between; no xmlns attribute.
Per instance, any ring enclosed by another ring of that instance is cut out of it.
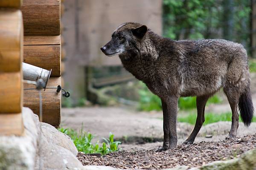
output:
<svg viewBox="0 0 256 170"><path fill-rule="evenodd" d="M121 150L98 158L79 152L77 157L83 165L102 165L120 169L164 169L178 165L200 167L212 161L237 158L255 147L256 134L220 142L178 145L176 149L160 153L155 150Z"/></svg>

